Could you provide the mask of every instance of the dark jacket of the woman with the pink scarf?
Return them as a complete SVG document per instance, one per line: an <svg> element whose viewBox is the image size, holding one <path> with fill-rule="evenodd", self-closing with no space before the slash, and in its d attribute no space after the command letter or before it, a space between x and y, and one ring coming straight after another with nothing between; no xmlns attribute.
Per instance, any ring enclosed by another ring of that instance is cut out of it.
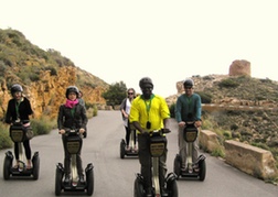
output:
<svg viewBox="0 0 278 197"><path fill-rule="evenodd" d="M73 110L73 113L72 113ZM61 129L86 129L88 119L85 107L77 103L74 108L67 108L61 105L57 117L57 128Z"/></svg>

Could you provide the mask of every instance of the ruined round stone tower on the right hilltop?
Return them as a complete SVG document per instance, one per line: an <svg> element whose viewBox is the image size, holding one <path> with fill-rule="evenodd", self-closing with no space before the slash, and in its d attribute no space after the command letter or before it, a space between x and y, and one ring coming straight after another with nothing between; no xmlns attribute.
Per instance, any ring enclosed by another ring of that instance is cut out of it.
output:
<svg viewBox="0 0 278 197"><path fill-rule="evenodd" d="M250 63L248 61L234 61L229 66L229 76L250 76Z"/></svg>

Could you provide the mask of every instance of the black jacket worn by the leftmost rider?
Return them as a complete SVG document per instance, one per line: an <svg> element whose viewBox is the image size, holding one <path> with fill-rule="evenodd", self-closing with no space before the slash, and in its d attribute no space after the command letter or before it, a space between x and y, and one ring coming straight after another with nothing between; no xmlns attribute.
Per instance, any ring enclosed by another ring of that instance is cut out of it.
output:
<svg viewBox="0 0 278 197"><path fill-rule="evenodd" d="M15 99L9 100L4 119L6 123L11 123L12 121L15 121L18 118L24 121L23 123L29 122L30 120L29 116L33 113L33 110L31 108L30 101L25 97L23 97L23 100L18 106L18 109L19 110L17 112L17 100Z"/></svg>

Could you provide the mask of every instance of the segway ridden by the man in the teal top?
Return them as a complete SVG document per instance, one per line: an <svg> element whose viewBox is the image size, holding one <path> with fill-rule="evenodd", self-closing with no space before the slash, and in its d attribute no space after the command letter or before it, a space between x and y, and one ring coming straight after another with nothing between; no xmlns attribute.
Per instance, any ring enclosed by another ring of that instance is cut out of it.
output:
<svg viewBox="0 0 278 197"><path fill-rule="evenodd" d="M186 143L186 166L185 169L182 169L182 158L180 154L175 155L174 158L174 173L179 177L192 177L199 178L199 180L203 182L205 179L206 174L206 165L205 165L205 156L201 154L195 163L192 162L192 151L193 151L193 142L195 142L197 138L197 128L194 124L195 122L186 122L183 130L183 139ZM194 166L197 166L194 168Z"/></svg>

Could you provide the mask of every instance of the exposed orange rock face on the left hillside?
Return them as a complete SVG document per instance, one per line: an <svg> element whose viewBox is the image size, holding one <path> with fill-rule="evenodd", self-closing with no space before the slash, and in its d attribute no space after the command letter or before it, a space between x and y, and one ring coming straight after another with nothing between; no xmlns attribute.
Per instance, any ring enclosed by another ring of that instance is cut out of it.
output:
<svg viewBox="0 0 278 197"><path fill-rule="evenodd" d="M22 85L23 94L30 99L35 118L40 118L42 114L50 118L57 116L60 105L65 102L65 87L75 85L77 72L77 68L72 66L61 67L56 76L51 76L50 70L42 70L40 80L30 85ZM0 117L3 117L11 95L6 80L0 86ZM106 103L101 97L105 87L96 86L93 88L92 86L84 85L81 89L86 102L96 105Z"/></svg>

